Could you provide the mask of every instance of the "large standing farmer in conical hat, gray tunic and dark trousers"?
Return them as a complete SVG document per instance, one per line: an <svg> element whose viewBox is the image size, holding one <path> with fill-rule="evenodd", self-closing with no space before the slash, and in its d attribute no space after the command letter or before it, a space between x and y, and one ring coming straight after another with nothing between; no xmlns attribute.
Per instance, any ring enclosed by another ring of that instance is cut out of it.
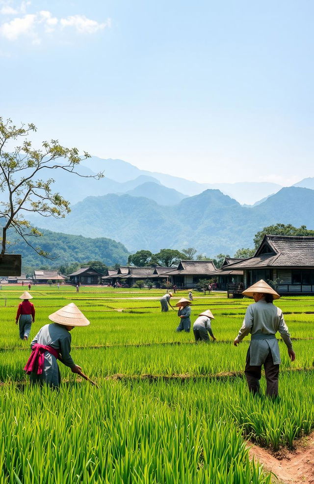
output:
<svg viewBox="0 0 314 484"><path fill-rule="evenodd" d="M293 362L295 354L292 349L290 334L285 323L283 312L274 306L273 300L279 299L277 292L262 279L242 292L244 296L253 297L255 303L248 306L242 327L235 338L234 345L251 333L251 344L246 355L245 376L249 391L260 392L261 369L264 365L267 396L278 396L278 375L281 363L277 331L287 345L288 355Z"/></svg>

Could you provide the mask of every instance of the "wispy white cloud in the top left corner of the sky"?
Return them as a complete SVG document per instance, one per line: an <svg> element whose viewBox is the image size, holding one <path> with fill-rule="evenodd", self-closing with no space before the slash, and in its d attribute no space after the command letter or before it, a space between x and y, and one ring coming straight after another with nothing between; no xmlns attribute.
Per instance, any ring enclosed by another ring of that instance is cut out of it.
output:
<svg viewBox="0 0 314 484"><path fill-rule="evenodd" d="M74 30L78 34L93 34L106 27L111 27L111 20L97 22L88 19L85 15L72 15L66 18L57 18L49 10L40 10L35 13L26 13L30 1L22 1L19 6L12 6L12 1L0 0L0 15L18 15L12 20L0 21L0 36L15 41L19 37L28 37L33 44L39 44L45 34L52 34L56 30ZM2 7L1 7L2 5Z"/></svg>

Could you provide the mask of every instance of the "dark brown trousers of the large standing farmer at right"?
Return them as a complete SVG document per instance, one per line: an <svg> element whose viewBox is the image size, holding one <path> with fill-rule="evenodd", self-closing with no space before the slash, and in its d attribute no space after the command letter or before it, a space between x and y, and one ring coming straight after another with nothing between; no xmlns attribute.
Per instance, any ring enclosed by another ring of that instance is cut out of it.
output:
<svg viewBox="0 0 314 484"><path fill-rule="evenodd" d="M264 370L266 377L266 395L278 396L278 376L279 376L279 364L274 364L271 351L267 355L264 361ZM262 376L262 365L251 366L250 365L250 348L246 355L246 364L244 370L246 381L249 387L249 391L252 393L260 392L260 380Z"/></svg>

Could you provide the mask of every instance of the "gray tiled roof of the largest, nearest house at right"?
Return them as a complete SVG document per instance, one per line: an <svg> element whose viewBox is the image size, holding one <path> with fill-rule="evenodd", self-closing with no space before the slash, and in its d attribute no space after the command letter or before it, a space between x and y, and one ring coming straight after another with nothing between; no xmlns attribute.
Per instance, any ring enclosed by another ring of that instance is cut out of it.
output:
<svg viewBox="0 0 314 484"><path fill-rule="evenodd" d="M261 253L264 245L273 252ZM262 267L313 267L314 237L265 235L254 257L232 264L232 269ZM229 266L228 269L231 269Z"/></svg>

